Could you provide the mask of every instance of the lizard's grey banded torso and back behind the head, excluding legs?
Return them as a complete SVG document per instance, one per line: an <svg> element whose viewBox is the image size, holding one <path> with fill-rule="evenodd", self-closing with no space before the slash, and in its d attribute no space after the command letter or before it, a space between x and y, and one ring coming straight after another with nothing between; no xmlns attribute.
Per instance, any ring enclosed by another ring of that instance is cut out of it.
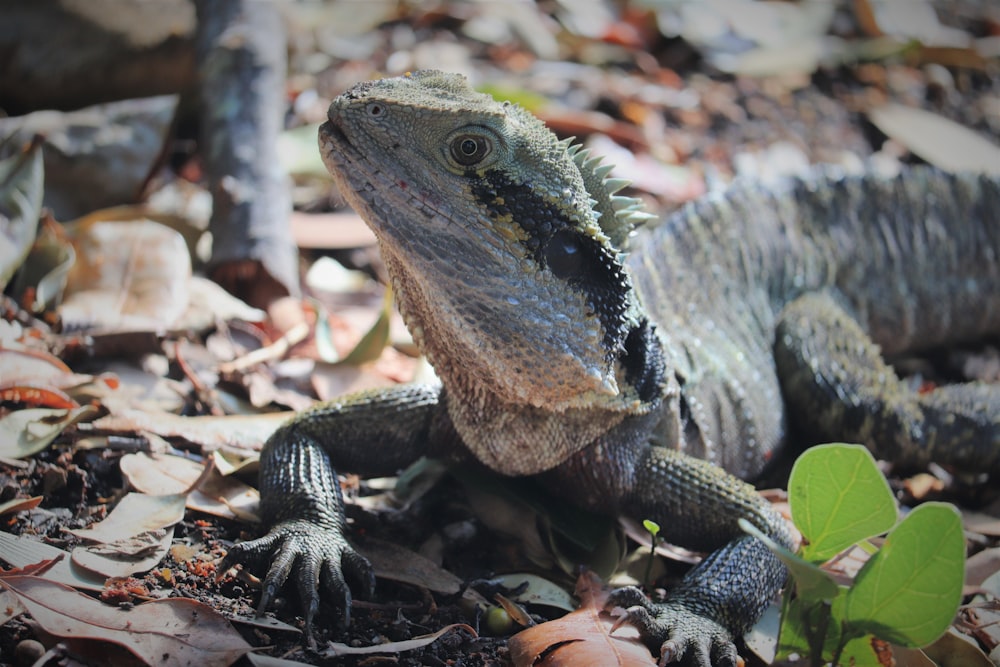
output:
<svg viewBox="0 0 1000 667"><path fill-rule="evenodd" d="M689 417L681 448L742 476L786 437L772 346L782 308L832 293L884 353L1000 332L1000 181L915 168L737 183L629 258Z"/></svg>

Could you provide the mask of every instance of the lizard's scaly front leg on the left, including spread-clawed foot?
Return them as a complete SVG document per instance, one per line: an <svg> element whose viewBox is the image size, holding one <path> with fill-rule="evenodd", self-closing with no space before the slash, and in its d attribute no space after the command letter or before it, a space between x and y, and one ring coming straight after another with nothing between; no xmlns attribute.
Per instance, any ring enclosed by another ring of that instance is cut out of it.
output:
<svg viewBox="0 0 1000 667"><path fill-rule="evenodd" d="M294 575L310 645L320 590L350 621L351 591L344 574L370 595L371 565L348 543L343 499L334 465L366 475L391 474L424 453L439 390L400 386L351 395L293 417L261 452L261 517L268 532L230 549L220 564L269 563L258 613ZM261 568L262 569L262 568Z"/></svg>

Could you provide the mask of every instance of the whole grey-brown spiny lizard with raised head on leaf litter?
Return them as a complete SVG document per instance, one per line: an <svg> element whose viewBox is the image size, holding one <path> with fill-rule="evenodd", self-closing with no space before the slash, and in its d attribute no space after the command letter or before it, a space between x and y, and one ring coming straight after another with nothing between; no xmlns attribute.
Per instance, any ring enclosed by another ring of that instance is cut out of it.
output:
<svg viewBox="0 0 1000 667"><path fill-rule="evenodd" d="M627 587L609 605L661 664L735 665L786 578L738 519L793 546L744 480L792 434L1000 472L995 385L918 393L882 356L1000 332L995 177L735 184L637 237L652 214L609 166L433 70L343 93L319 147L440 383L322 403L269 438L268 532L220 565L270 563L260 613L291 576L307 632L321 595L346 626L347 579L370 595L374 577L335 470L391 474L428 455L536 477L706 552L663 602Z"/></svg>

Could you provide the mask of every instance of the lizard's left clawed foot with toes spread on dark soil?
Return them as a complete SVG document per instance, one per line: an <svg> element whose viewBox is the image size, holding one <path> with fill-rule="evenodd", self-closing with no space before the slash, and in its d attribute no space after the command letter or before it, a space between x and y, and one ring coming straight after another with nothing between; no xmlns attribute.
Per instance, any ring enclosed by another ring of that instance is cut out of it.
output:
<svg viewBox="0 0 1000 667"><path fill-rule="evenodd" d="M371 597L375 588L371 563L354 550L339 528L319 526L303 519L283 521L275 524L263 537L233 545L217 572L221 576L237 564L257 570L268 561L270 565L264 578L257 614L263 614L271 606L294 570L310 647L316 645L312 624L319 609L320 590L334 601L340 612L338 626L346 628L351 620L351 589L344 574L361 584L365 597Z"/></svg>

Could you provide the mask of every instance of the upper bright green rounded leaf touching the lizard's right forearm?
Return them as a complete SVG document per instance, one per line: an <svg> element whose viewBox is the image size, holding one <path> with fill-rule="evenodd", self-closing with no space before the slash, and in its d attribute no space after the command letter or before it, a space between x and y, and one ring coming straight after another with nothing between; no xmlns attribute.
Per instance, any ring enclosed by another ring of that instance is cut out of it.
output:
<svg viewBox="0 0 1000 667"><path fill-rule="evenodd" d="M823 563L896 523L896 504L875 459L861 445L812 447L788 480L792 521L806 539L802 557Z"/></svg>

